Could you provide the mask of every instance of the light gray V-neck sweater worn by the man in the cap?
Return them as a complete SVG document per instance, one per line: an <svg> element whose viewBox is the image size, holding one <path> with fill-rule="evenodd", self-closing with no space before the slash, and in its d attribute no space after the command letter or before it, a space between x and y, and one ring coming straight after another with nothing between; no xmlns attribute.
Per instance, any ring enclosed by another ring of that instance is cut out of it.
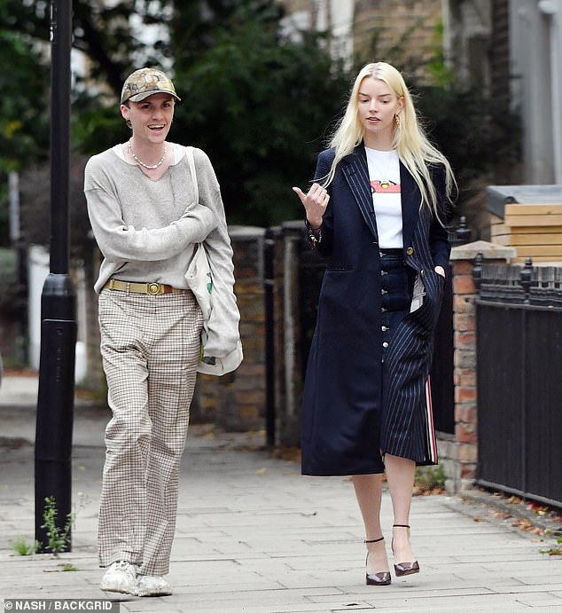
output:
<svg viewBox="0 0 562 613"><path fill-rule="evenodd" d="M90 158L84 173L88 215L104 256L94 289L108 279L187 288L185 271L195 245L205 241L213 275L207 356L225 356L238 342L234 266L221 190L207 154L194 149L199 203L185 149L172 144L175 162L152 181L127 163L116 145Z"/></svg>

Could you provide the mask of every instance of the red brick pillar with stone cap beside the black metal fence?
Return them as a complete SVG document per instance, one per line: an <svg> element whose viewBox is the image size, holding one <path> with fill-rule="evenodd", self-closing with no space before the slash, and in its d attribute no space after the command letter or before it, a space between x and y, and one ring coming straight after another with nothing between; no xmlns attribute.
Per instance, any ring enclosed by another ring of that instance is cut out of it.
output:
<svg viewBox="0 0 562 613"><path fill-rule="evenodd" d="M472 270L474 259L482 255L486 263L509 262L515 249L484 240L455 247L453 266L453 327L455 343L455 449L454 492L472 486L478 466L478 385L476 380L476 297Z"/></svg>

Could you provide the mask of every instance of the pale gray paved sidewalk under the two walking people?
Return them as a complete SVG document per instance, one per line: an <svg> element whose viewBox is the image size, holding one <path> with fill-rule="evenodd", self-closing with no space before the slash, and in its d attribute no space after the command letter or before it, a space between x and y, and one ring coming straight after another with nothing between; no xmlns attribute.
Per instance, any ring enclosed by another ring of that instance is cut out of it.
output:
<svg viewBox="0 0 562 613"><path fill-rule="evenodd" d="M0 596L103 598L96 530L105 407L77 401L74 420L73 551L21 557L11 543L34 538L36 379L0 389ZM386 545L392 524L383 501ZM263 434L194 426L183 457L172 596L111 594L121 612L381 613L562 611L562 558L541 551L554 538L514 528L477 499L413 499L412 545L421 572L392 585L364 585L362 525L352 484L300 475L271 457ZM389 552L390 554L390 552ZM74 572L63 571L70 564Z"/></svg>

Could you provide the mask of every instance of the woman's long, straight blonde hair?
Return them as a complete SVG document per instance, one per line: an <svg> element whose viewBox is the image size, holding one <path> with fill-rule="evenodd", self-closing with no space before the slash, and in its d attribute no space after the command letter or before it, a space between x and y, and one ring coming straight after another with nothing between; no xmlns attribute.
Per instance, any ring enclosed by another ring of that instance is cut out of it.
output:
<svg viewBox="0 0 562 613"><path fill-rule="evenodd" d="M402 97L404 100L399 120L394 123L392 146L393 149L396 149L398 157L418 185L421 193L420 205L426 202L437 215L437 193L427 165L442 164L445 167L446 189L449 200L453 188L457 186L453 170L447 158L425 136L424 130L419 124L410 91L406 87L402 75L394 66L386 62L367 64L355 78L354 86L349 94L346 112L330 140L330 146L335 149L335 157L330 172L324 178L324 187L332 183L336 167L341 159L363 142L364 130L359 119L358 94L363 79L368 77L383 81L398 98Z"/></svg>

